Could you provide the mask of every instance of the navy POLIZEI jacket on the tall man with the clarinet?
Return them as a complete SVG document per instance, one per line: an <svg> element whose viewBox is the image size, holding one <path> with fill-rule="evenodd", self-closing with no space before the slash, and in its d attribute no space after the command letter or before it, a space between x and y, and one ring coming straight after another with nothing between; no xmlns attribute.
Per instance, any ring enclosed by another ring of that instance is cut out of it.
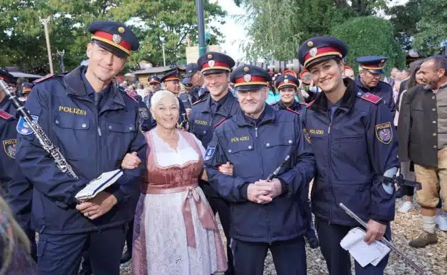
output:
<svg viewBox="0 0 447 275"><path fill-rule="evenodd" d="M25 107L55 146L72 165L79 179L57 168L34 134L17 138L16 159L32 181L32 226L47 234L87 232L127 223L133 218L133 199L144 164L124 175L106 189L118 203L102 217L91 221L76 210L76 193L101 173L120 168L126 153L137 152L144 161L146 142L138 131L138 104L109 85L107 100L100 111L94 106L94 89L83 80L85 67L66 76L37 83Z"/></svg>

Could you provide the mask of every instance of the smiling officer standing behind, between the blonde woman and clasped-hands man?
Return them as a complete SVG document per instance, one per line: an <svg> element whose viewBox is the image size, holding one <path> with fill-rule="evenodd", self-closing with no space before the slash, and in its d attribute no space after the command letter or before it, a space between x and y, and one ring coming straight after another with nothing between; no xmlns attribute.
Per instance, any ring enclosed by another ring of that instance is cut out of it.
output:
<svg viewBox="0 0 447 275"><path fill-rule="evenodd" d="M197 64L206 86L209 87L209 93L193 104L190 122L193 124L194 135L206 148L217 124L239 111L239 103L228 88L228 77L232 67L235 66L235 61L226 54L207 52L199 57ZM199 185L204 190L212 211L219 213L219 219L227 239L228 270L226 274L234 274L229 233L230 206L207 181L201 180Z"/></svg>

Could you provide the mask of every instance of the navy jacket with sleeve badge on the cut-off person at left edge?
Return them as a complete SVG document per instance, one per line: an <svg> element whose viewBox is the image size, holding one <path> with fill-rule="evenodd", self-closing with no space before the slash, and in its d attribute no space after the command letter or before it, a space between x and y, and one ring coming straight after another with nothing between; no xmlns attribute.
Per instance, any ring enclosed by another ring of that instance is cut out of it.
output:
<svg viewBox="0 0 447 275"><path fill-rule="evenodd" d="M2 196L8 202L17 222L30 228L32 185L15 162L17 146L17 119L9 113L0 115L0 182Z"/></svg>

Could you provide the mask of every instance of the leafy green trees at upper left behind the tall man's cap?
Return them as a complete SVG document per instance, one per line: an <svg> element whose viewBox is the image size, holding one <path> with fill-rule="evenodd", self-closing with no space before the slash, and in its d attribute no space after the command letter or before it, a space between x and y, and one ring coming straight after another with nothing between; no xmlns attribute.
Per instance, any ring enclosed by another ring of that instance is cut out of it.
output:
<svg viewBox="0 0 447 275"><path fill-rule="evenodd" d="M195 0L0 0L0 66L47 69L45 33L39 18L51 17L50 43L54 70L60 70L56 50L65 50L66 70L78 66L85 56L91 34L87 26L97 20L121 21L131 25L140 39L140 50L129 58L135 68L141 59L162 64L162 45L166 63L184 58L186 37L197 41ZM222 22L225 12L219 5L204 0L205 23ZM208 30L212 43L221 33ZM47 72L49 69L47 69Z"/></svg>

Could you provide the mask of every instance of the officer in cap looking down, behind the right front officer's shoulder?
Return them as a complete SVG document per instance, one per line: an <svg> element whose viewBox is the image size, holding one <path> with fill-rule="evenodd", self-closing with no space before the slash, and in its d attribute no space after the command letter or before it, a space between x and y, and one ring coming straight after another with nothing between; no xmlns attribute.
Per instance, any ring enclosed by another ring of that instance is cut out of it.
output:
<svg viewBox="0 0 447 275"><path fill-rule="evenodd" d="M396 107L393 99L393 87L380 80L385 72L386 59L388 59L386 56L362 56L357 58L362 70L356 78L356 85L364 93L371 93L382 98L381 103L389 107L394 118Z"/></svg>

